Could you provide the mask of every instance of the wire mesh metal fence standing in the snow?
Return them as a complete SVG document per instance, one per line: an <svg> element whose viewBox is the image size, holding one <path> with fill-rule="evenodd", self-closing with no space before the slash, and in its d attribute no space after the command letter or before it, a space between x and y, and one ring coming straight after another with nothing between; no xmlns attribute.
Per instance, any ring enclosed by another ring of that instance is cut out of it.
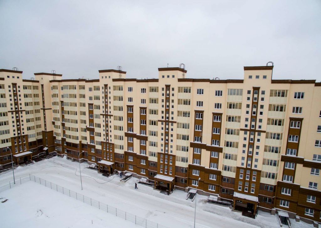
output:
<svg viewBox="0 0 321 228"><path fill-rule="evenodd" d="M158 223L154 223L152 221L149 221L145 218L139 217L137 215L130 214L126 211L117 209L116 207L107 205L105 203L102 203L102 202L92 199L90 197L84 196L84 195L82 195L78 192L72 191L70 189L61 187L57 184L54 184L48 180L41 179L41 178L36 177L34 175L30 175L29 177L25 177L25 178L20 178L18 181L16 181L15 184L13 184L12 182L9 182L8 185L4 185L4 186L0 187L0 192L7 190L7 189L11 189L14 186L21 185L22 183L25 183L30 180L34 181L38 184L41 184L43 186L46 186L47 188L53 189L57 192L60 192L66 196L69 196L69 197L72 197L76 200L82 201L83 203L86 203L90 206L94 206L100 210L106 211L107 213L116 215L117 217L121 217L127 221L134 223L134 224L143 226L145 228L168 228L167 226L163 226Z"/></svg>

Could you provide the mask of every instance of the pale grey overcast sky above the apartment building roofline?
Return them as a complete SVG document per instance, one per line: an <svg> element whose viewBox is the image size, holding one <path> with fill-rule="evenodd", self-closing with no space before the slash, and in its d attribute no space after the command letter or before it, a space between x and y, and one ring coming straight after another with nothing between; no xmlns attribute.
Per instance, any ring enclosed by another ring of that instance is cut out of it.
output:
<svg viewBox="0 0 321 228"><path fill-rule="evenodd" d="M0 0L0 68L130 78L184 63L189 78L242 79L274 62L274 79L321 81L321 1Z"/></svg>

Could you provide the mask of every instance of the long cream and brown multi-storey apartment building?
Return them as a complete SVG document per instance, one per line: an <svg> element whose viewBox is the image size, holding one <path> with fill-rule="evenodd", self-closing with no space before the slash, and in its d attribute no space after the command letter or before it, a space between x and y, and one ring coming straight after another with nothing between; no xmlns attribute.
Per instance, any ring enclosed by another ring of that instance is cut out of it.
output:
<svg viewBox="0 0 321 228"><path fill-rule="evenodd" d="M195 189L247 208L321 222L321 83L189 79L179 67L158 79L67 79L0 70L1 165L56 152L100 172L132 172L155 188ZM200 178L200 180L199 180ZM199 180L199 181L198 181Z"/></svg>

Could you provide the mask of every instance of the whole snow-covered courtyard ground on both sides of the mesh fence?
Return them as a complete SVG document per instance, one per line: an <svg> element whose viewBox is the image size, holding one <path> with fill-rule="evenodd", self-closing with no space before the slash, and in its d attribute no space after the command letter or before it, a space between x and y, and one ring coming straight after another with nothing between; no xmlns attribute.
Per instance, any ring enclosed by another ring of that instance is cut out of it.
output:
<svg viewBox="0 0 321 228"><path fill-rule="evenodd" d="M81 190L78 162L60 157L20 166L14 172L16 181L20 181L20 177L29 178L31 174L163 226L194 226L195 202L186 200L187 194L181 190L167 196L142 184L134 189L136 178L124 183L117 175L104 177L88 169L86 162L81 163ZM9 181L12 185L12 171L1 173L0 189ZM0 197L4 227L141 227L34 181L2 191ZM280 227L276 215L259 211L256 219L252 219L242 216L241 212L231 211L229 207L206 203L206 198L197 196L196 227ZM313 227L293 219L291 224L294 228Z"/></svg>

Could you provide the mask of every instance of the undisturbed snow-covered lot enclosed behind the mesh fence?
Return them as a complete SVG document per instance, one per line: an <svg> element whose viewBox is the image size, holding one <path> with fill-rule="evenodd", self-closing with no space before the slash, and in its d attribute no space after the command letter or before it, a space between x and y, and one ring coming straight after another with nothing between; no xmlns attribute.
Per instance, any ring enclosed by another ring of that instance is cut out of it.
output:
<svg viewBox="0 0 321 228"><path fill-rule="evenodd" d="M0 196L2 227L141 227L33 181Z"/></svg>

